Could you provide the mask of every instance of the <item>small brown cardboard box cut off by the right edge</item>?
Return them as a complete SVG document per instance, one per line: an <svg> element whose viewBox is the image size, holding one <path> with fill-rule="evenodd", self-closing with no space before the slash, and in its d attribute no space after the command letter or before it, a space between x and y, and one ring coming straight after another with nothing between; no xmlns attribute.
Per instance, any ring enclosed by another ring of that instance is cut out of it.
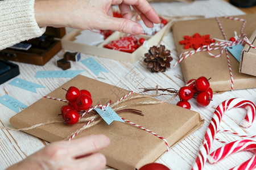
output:
<svg viewBox="0 0 256 170"><path fill-rule="evenodd" d="M251 44L256 46L256 29L250 37ZM243 48L240 58L240 73L256 76L256 49L251 48L248 44Z"/></svg>

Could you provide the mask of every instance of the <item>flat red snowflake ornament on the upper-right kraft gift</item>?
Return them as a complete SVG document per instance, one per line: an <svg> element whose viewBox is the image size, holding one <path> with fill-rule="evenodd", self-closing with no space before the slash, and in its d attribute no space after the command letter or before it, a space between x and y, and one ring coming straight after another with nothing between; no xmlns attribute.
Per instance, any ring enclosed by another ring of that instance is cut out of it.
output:
<svg viewBox="0 0 256 170"><path fill-rule="evenodd" d="M210 35L201 36L199 33L195 33L193 36L184 36L184 40L180 41L180 45L184 45L184 49L194 48L196 50L213 42L215 40L210 39Z"/></svg>

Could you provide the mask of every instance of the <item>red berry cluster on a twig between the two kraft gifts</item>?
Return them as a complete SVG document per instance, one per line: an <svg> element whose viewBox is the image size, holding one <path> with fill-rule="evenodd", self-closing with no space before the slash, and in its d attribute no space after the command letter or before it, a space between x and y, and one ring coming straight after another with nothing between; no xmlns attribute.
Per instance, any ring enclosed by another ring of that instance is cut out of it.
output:
<svg viewBox="0 0 256 170"><path fill-rule="evenodd" d="M190 109L191 105L188 100L192 99L193 96L196 96L196 101L201 106L205 107L210 104L213 92L207 78L200 76L198 79L189 80L187 84L189 85L180 88L178 93L180 101L176 105Z"/></svg>

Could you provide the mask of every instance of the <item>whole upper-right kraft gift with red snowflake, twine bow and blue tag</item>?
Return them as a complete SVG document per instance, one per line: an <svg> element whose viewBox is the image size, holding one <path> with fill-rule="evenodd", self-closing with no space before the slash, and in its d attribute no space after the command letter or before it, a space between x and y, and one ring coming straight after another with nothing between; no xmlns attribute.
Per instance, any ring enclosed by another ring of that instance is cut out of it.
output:
<svg viewBox="0 0 256 170"><path fill-rule="evenodd" d="M255 76L240 73L240 59L235 58L256 28L255 18L250 14L176 22L175 65L180 64L185 81L202 75L211 78L214 92L256 88Z"/></svg>

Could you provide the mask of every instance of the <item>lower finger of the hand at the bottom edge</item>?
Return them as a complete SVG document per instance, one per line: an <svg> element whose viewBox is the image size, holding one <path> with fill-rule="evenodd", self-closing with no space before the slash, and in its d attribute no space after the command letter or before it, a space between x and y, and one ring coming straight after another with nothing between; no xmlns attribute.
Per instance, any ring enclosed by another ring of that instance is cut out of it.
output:
<svg viewBox="0 0 256 170"><path fill-rule="evenodd" d="M90 156L86 156L85 158L76 159L76 165L79 165L77 169L104 169L106 166L106 158L103 154L94 153Z"/></svg>

